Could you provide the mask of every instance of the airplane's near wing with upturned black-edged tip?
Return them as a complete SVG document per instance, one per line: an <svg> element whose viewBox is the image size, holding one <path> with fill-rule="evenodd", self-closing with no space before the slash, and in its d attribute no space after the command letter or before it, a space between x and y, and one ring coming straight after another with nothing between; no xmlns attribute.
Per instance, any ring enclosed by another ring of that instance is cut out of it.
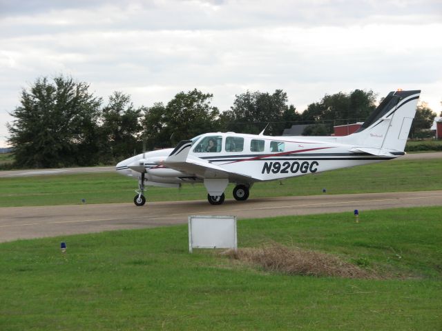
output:
<svg viewBox="0 0 442 331"><path fill-rule="evenodd" d="M237 181L239 183L249 183L257 180L253 179L253 177L244 176L243 174L226 171L218 165L198 157L192 157L189 155L191 146L192 141L181 141L162 164L166 165L168 168L193 174L196 177L204 179L231 179L231 181Z"/></svg>

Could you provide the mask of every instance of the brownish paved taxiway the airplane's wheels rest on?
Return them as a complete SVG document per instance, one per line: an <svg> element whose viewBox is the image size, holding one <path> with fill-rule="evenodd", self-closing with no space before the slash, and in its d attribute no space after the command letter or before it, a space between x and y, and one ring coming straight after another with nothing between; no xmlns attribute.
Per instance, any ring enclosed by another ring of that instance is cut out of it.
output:
<svg viewBox="0 0 442 331"><path fill-rule="evenodd" d="M0 242L54 237L107 230L153 228L186 223L189 215L232 215L238 220L283 215L348 212L352 221L358 209L363 222L365 210L442 205L442 190L371 194L336 194L307 197L278 197L236 201L222 205L204 201L151 202L99 205L57 205L0 208Z"/></svg>

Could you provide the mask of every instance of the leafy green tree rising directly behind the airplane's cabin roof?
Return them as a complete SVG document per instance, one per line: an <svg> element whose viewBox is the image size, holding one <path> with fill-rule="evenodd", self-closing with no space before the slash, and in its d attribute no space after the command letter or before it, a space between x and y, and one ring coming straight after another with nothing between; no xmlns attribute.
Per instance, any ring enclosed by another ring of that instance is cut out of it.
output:
<svg viewBox="0 0 442 331"><path fill-rule="evenodd" d="M296 108L287 105L287 101L287 93L282 90L273 94L247 91L236 95L233 107L221 115L223 129L257 134L268 124L267 134L280 135L290 122L300 119Z"/></svg>

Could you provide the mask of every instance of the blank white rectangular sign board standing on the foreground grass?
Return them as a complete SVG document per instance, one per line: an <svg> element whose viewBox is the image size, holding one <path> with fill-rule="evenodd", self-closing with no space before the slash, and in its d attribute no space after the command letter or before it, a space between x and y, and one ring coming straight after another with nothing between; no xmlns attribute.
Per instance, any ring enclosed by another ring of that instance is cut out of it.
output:
<svg viewBox="0 0 442 331"><path fill-rule="evenodd" d="M236 217L189 216L189 252L192 248L237 247Z"/></svg>

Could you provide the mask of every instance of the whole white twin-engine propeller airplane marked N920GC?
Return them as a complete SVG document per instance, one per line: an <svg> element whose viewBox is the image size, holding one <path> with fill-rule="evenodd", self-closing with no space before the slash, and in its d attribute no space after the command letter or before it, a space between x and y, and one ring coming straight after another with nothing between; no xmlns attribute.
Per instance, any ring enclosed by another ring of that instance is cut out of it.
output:
<svg viewBox="0 0 442 331"><path fill-rule="evenodd" d="M213 132L117 164L117 172L138 179L135 205L144 205L145 185L178 188L204 183L213 205L233 197L247 200L257 181L273 181L394 159L403 154L420 90L390 92L361 128L345 137L270 137Z"/></svg>

